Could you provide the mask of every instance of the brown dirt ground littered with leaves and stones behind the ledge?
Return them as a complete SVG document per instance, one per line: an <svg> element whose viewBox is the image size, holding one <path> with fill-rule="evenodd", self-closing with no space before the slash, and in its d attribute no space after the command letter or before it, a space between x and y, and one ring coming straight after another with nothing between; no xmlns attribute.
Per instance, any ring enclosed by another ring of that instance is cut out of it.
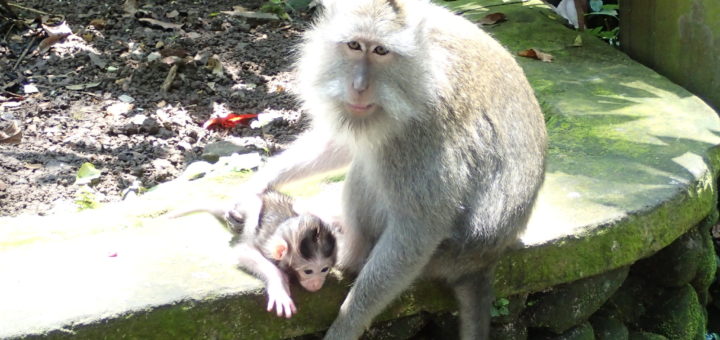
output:
<svg viewBox="0 0 720 340"><path fill-rule="evenodd" d="M92 200L106 204L177 177L227 138L281 150L305 125L292 58L312 9L287 21L238 5L261 2L10 2L17 20L0 6L0 216L77 209L86 162L101 170ZM203 128L227 112L270 122Z"/></svg>

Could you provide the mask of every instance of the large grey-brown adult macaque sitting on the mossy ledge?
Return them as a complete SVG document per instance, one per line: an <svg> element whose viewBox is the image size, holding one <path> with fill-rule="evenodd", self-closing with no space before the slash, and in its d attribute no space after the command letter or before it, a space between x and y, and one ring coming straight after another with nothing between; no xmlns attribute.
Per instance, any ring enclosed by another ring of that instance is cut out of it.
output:
<svg viewBox="0 0 720 340"><path fill-rule="evenodd" d="M360 337L421 274L453 287L463 339L487 339L493 269L543 180L533 91L495 40L427 1L323 6L297 64L312 129L245 189L349 165L339 265L359 274L326 339Z"/></svg>

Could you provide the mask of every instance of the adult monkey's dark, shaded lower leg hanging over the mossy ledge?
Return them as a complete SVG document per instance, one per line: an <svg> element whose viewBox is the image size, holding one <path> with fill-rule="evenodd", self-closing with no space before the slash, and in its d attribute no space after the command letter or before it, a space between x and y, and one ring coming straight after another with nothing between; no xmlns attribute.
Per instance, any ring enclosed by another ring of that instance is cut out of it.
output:
<svg viewBox="0 0 720 340"><path fill-rule="evenodd" d="M460 338L487 340L490 334L492 270L472 273L453 284L460 307Z"/></svg>

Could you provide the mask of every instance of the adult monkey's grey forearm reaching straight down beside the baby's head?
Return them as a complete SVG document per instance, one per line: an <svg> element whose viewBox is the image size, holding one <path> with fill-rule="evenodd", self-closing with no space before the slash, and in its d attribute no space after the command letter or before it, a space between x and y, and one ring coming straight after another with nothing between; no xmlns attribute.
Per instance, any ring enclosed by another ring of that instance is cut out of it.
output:
<svg viewBox="0 0 720 340"><path fill-rule="evenodd" d="M417 216L417 215L415 215ZM325 339L357 339L422 272L445 238L431 221L396 214L373 247Z"/></svg>

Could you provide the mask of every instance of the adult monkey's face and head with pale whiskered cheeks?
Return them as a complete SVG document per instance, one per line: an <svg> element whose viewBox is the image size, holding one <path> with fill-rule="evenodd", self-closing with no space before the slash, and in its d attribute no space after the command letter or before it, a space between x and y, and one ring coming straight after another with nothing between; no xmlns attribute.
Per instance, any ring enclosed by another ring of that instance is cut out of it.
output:
<svg viewBox="0 0 720 340"><path fill-rule="evenodd" d="M306 33L297 63L299 95L314 121L377 140L423 119L435 95L418 38L422 27L387 1L327 6Z"/></svg>

